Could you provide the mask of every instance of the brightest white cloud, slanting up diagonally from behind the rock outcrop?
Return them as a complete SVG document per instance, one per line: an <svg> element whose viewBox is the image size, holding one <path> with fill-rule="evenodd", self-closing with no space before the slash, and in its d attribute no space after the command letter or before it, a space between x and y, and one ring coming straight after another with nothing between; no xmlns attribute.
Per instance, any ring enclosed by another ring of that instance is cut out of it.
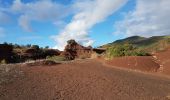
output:
<svg viewBox="0 0 170 100"><path fill-rule="evenodd" d="M75 39L79 43L88 46L92 40L89 35L89 29L95 24L104 21L109 15L113 14L127 0L77 0L73 7L76 13L73 19L65 28L53 39L56 41L55 48L63 50L66 41Z"/></svg>

